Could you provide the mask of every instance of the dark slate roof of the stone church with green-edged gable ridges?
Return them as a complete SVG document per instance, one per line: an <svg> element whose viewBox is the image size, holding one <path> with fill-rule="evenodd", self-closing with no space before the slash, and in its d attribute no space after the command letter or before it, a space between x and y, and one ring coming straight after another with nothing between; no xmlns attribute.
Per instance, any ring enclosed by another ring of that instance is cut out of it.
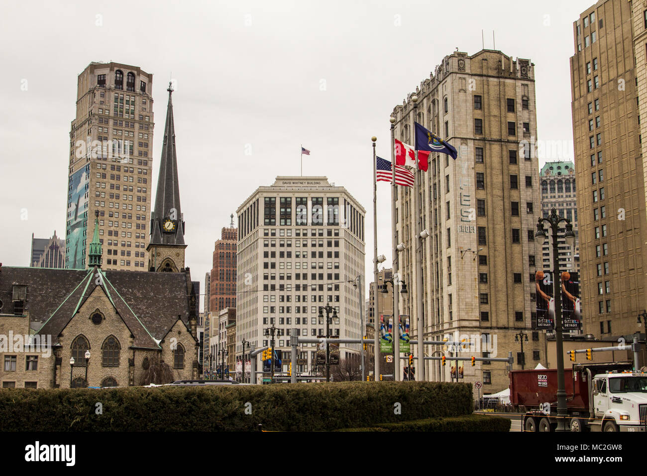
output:
<svg viewBox="0 0 647 476"><path fill-rule="evenodd" d="M135 346L159 348L155 339L168 334L178 316L188 327L188 273L104 271L102 288L135 336ZM12 313L13 284L27 285L26 310L36 329L54 341L74 313L91 295L96 268L87 270L34 267L0 268L2 313ZM195 338L195 336L194 336Z"/></svg>

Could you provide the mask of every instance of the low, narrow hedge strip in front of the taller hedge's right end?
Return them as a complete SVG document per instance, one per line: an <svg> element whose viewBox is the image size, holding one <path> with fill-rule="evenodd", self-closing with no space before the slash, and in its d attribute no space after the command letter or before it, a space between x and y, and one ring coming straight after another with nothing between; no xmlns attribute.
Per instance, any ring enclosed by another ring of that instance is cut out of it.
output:
<svg viewBox="0 0 647 476"><path fill-rule="evenodd" d="M511 421L502 416L479 414L450 418L428 418L413 422L385 423L373 427L347 428L336 431L510 431Z"/></svg>

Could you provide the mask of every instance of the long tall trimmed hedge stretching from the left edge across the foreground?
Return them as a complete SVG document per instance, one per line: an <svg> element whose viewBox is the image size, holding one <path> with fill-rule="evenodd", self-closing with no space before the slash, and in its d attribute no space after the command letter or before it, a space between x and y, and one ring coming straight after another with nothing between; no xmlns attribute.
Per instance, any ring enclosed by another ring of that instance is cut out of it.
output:
<svg viewBox="0 0 647 476"><path fill-rule="evenodd" d="M0 431L322 431L470 413L468 383L0 389Z"/></svg>

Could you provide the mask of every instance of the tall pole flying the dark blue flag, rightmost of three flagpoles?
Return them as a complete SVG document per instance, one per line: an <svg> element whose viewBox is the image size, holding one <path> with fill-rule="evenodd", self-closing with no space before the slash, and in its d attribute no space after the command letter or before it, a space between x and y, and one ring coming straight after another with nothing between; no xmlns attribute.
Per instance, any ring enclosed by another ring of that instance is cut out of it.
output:
<svg viewBox="0 0 647 476"><path fill-rule="evenodd" d="M424 293L422 292L422 244L424 240L422 239L422 213L419 212L419 190L420 182L422 180L420 168L418 166L418 148L415 140L415 121L417 119L418 111L418 97L413 96L413 150L415 151L415 180L413 182L413 210L415 210L416 222L415 222L415 255L413 257L413 270L415 272L415 313L417 316L417 337L418 337L418 379L419 381L425 380L424 372L424 315L422 313L422 299Z"/></svg>

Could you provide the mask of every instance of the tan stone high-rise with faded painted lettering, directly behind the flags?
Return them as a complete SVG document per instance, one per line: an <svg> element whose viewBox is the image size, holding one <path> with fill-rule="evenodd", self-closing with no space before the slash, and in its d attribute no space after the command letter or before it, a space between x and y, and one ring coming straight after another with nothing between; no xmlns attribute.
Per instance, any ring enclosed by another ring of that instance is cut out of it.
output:
<svg viewBox="0 0 647 476"><path fill-rule="evenodd" d="M397 187L397 242L406 245L397 271L409 289L399 295L400 313L410 316L412 338L420 335L416 296L422 292L425 340L464 336L474 345L478 341L479 356L507 357L517 350L513 368L521 368L524 357L525 368L534 367L544 354L540 333L532 331L540 254L534 232L541 216L534 91L530 60L492 50L445 56L416 88L416 120L450 142L458 157L430 155L428 172L421 174L419 210L413 210L412 189ZM395 137L407 144L414 143L411 96L392 114ZM418 216L429 233L422 242L414 236ZM422 289L413 274L419 243ZM520 332L529 339L525 355L515 342ZM425 352L450 355L442 346ZM464 379L482 381L486 392L499 391L509 384L504 365L466 365ZM426 375L448 381L450 365L433 361Z"/></svg>

